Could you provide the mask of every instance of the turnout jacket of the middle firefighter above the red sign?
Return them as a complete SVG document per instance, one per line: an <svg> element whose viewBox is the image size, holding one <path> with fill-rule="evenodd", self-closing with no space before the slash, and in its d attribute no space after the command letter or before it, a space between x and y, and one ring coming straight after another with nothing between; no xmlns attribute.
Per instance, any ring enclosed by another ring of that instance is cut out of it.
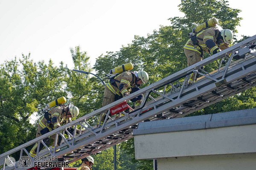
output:
<svg viewBox="0 0 256 170"><path fill-rule="evenodd" d="M107 87L113 94L118 94L119 96L124 96L128 93L129 88L134 88L136 86L137 77L133 72L125 71L114 78L114 82L107 83Z"/></svg>

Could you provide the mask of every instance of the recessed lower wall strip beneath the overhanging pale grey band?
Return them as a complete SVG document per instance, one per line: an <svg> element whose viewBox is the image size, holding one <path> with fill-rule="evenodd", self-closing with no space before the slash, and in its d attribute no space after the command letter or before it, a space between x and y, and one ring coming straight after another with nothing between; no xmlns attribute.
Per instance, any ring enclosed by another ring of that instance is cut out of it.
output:
<svg viewBox="0 0 256 170"><path fill-rule="evenodd" d="M158 170L256 170L256 154L157 159Z"/></svg>

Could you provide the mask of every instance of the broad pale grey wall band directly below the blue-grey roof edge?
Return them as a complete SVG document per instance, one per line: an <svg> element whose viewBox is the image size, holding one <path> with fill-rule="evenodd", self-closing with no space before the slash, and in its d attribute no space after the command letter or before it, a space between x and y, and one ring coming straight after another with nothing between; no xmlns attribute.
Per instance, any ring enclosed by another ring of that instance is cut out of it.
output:
<svg viewBox="0 0 256 170"><path fill-rule="evenodd" d="M136 159L256 153L256 125L138 135L134 144Z"/></svg>

